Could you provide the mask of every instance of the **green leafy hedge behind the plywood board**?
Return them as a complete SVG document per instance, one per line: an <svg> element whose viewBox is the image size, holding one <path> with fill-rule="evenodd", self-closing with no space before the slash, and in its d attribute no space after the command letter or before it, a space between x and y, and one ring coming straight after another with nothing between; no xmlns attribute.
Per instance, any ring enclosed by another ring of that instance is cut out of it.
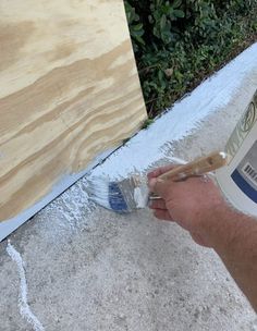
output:
<svg viewBox="0 0 257 331"><path fill-rule="evenodd" d="M125 9L150 117L256 39L257 0L125 0Z"/></svg>

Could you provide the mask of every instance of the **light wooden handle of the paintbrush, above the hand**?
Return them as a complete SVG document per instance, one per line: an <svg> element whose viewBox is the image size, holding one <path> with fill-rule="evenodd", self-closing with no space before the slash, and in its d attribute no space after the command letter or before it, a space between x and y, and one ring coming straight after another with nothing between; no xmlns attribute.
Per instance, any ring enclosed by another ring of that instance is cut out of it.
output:
<svg viewBox="0 0 257 331"><path fill-rule="evenodd" d="M159 176L161 180L180 181L191 176L203 175L217 170L228 163L228 156L223 151L215 151L206 157L196 159L184 166L179 166Z"/></svg>

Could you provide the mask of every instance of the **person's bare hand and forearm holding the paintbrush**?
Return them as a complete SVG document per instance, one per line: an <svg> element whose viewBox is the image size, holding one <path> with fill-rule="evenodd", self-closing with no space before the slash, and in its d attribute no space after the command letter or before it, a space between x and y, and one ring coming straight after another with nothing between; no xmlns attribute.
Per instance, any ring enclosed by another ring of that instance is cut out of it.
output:
<svg viewBox="0 0 257 331"><path fill-rule="evenodd" d="M176 222L197 244L213 248L257 311L257 220L233 210L210 179L157 179L170 169L148 174L150 191L162 198L150 205L155 216Z"/></svg>

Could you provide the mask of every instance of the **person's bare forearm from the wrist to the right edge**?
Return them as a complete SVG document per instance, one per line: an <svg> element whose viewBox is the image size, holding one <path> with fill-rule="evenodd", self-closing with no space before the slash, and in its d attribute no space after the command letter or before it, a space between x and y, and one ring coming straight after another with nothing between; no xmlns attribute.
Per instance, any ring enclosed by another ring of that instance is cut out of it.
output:
<svg viewBox="0 0 257 331"><path fill-rule="evenodd" d="M230 208L212 219L210 244L257 311L257 220Z"/></svg>

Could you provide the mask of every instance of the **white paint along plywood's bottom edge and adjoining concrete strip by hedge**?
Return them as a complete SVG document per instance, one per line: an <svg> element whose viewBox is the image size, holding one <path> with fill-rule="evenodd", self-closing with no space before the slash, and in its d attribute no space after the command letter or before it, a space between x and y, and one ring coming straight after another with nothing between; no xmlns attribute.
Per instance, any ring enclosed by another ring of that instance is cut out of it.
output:
<svg viewBox="0 0 257 331"><path fill-rule="evenodd" d="M82 179L79 185L87 186L87 180L91 177L105 177L108 179L108 181L119 181L134 173L145 174L152 164L161 159L166 159L167 162L172 162L174 159L172 152L173 143L183 139L194 132L200 131L206 119L215 112L222 112L227 109L228 105L235 99L238 90L243 89L245 79L254 76L253 72L257 70L256 53L257 42L242 52L217 74L205 81L189 96L178 101L170 111L157 119L148 130L140 131L125 146L112 154L105 163L94 169L90 175L87 174L86 177ZM252 85L256 86L255 81ZM250 84L248 84L248 86L250 86ZM241 98L244 99L244 95L245 94L241 91ZM97 158L91 167L96 166L98 161L101 161L107 155L108 152ZM61 179L60 185L56 186L52 193L45 199L33 208L25 210L17 218L0 223L0 241L86 173L87 171L84 171L73 177ZM108 192L108 185L105 187ZM103 189L102 186L101 189ZM75 185L74 192L77 192L77 195L81 197L87 197L85 189L81 192L77 189L77 185ZM69 203L65 208L60 207L63 209L61 213L64 219L64 222L60 222L60 226L63 226L64 230L61 229L56 234L60 234L62 230L65 232L69 228L76 229L76 223L81 224L81 222L84 222L79 214L82 208L75 207L76 199L73 198L73 194L74 193L69 189L66 193ZM103 200L106 196L105 194ZM79 200L82 200L82 206L87 204L86 198L84 200L79 198ZM102 204L101 199L100 205ZM54 203L51 203L49 206L47 210L49 210L50 217L53 213L58 213ZM78 218L76 218L76 213L79 214Z"/></svg>

